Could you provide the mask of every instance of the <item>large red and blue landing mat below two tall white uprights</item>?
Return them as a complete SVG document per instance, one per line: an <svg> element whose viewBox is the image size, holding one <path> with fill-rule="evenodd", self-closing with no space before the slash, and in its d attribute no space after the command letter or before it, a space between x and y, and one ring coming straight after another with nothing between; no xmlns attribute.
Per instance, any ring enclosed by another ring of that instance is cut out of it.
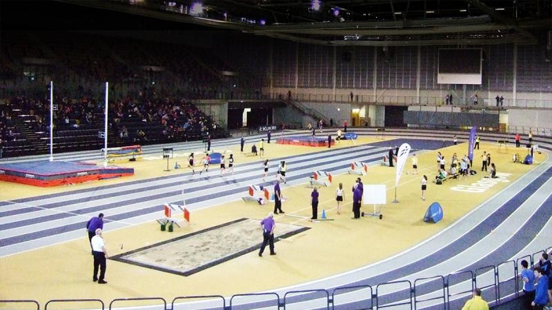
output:
<svg viewBox="0 0 552 310"><path fill-rule="evenodd" d="M134 168L97 166L68 161L31 161L0 164L0 180L39 187L52 187L90 180L132 176Z"/></svg>

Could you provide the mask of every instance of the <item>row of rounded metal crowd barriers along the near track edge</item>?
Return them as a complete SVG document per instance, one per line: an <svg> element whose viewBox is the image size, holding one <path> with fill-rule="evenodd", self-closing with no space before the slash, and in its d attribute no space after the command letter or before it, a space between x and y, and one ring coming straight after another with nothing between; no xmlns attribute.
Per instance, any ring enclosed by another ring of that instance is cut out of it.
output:
<svg viewBox="0 0 552 310"><path fill-rule="evenodd" d="M242 293L230 298L220 295L179 296L170 302L161 297L116 298L108 309L161 309L161 310L248 310L248 309L460 309L471 298L475 287L482 290L482 297L489 304L501 304L517 298L523 289L517 275L522 260L530 265L538 263L542 253L550 253L552 247L515 260L506 260L498 265L478 267L475 270L458 271L446 276L432 276L410 280L385 282L375 285L355 285L333 289L311 289L288 291L284 296L278 293ZM375 292L374 292L375 291ZM156 302L155 305L144 302ZM78 304L82 308L77 308ZM97 307L92 304L97 304ZM128 304L128 303L132 303ZM43 309L104 309L99 299L57 299L49 300ZM29 309L40 310L36 300L0 300L0 310Z"/></svg>

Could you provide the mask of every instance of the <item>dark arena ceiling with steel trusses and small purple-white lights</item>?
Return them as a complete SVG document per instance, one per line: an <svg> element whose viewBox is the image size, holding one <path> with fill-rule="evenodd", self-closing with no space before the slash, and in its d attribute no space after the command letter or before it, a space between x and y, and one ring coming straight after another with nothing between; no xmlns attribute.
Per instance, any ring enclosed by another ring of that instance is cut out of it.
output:
<svg viewBox="0 0 552 310"><path fill-rule="evenodd" d="M532 44L552 29L552 0L57 2L324 45Z"/></svg>

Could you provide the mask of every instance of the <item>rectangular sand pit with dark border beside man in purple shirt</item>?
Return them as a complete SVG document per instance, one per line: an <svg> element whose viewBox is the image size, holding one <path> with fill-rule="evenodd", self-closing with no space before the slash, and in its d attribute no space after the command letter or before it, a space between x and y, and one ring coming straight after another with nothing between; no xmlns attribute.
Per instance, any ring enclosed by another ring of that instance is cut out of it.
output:
<svg viewBox="0 0 552 310"><path fill-rule="evenodd" d="M261 220L240 218L193 234L128 251L111 259L190 276L259 249L262 242L260 223ZM299 225L276 223L275 242L307 229L309 228Z"/></svg>

